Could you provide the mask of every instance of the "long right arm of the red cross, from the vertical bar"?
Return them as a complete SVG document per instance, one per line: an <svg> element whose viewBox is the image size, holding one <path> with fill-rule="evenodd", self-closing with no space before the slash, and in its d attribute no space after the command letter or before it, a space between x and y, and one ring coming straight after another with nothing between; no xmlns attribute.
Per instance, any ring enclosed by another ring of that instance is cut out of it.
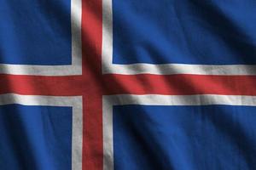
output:
<svg viewBox="0 0 256 170"><path fill-rule="evenodd" d="M255 76L105 75L104 94L256 95Z"/></svg>

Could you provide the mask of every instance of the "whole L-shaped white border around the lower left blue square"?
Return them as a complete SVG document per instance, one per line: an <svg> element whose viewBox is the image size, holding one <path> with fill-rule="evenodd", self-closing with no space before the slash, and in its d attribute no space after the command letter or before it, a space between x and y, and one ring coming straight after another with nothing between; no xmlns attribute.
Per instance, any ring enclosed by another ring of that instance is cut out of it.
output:
<svg viewBox="0 0 256 170"><path fill-rule="evenodd" d="M81 96L55 97L20 94L1 94L0 105L47 105L73 108L72 169L82 169L83 107Z"/></svg>

